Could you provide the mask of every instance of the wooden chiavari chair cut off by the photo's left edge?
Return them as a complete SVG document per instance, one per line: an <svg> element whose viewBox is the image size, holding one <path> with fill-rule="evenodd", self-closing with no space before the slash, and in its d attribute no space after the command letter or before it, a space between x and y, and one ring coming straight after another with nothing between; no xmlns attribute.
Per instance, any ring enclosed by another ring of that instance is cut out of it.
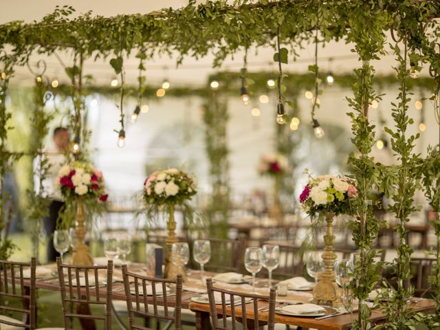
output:
<svg viewBox="0 0 440 330"><path fill-rule="evenodd" d="M30 269L30 277L25 278L23 275L23 268ZM18 263L14 261L0 261L0 311L8 311L22 314L23 316L29 316L29 324L23 325L23 322L17 320L6 321L0 320L1 325L10 325L13 327L35 329L35 309L36 309L36 294L35 294L35 269L36 259L32 258L30 263ZM29 284L25 280L29 281ZM19 288L17 283L19 282ZM3 303L5 298L8 300L18 300L23 308L12 307L10 304Z"/></svg>

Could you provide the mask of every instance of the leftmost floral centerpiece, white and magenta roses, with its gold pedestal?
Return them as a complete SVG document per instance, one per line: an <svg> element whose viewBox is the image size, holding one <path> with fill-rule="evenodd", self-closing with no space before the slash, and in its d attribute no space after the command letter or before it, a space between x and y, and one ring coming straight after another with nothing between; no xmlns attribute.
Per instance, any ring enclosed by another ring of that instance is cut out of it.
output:
<svg viewBox="0 0 440 330"><path fill-rule="evenodd" d="M72 263L74 265L93 265L89 248L84 242L84 203L89 213L100 210L100 204L107 201L104 177L100 170L85 162L65 164L58 172L58 185L66 202L67 210L76 211L75 233L77 243L74 246ZM74 208L76 207L76 210Z"/></svg>

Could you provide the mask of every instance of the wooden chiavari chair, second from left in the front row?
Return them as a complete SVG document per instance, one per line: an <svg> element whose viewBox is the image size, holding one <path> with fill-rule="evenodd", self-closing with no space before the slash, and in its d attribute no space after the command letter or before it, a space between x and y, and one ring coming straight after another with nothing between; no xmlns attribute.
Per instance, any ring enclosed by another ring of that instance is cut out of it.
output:
<svg viewBox="0 0 440 330"><path fill-rule="evenodd" d="M75 266L65 265L61 263L60 258L57 258L56 266L60 283L64 328L73 329L71 320L72 318L78 318L83 325L90 325L90 322L94 323L95 320L104 321L104 329L110 330L113 261L109 260L107 266ZM107 271L105 298L101 298L99 295L100 270ZM65 271L67 274L65 274ZM65 280L65 276L67 276L67 280ZM81 282L82 278L83 282ZM70 311L68 308L68 304L71 303L78 307L76 313L74 313L74 309ZM86 314L87 307L90 305L104 306L104 316Z"/></svg>

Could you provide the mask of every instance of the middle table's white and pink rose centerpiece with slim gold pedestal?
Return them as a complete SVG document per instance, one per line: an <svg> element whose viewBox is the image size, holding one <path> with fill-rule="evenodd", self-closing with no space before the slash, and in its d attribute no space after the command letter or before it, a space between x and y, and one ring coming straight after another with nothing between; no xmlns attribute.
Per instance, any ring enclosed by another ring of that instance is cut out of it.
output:
<svg viewBox="0 0 440 330"><path fill-rule="evenodd" d="M169 168L168 170L156 170L151 173L144 182L144 200L149 211L156 212L158 208L168 208L168 237L166 245L168 253L165 261L165 277L175 278L184 270L179 270L171 263L171 247L177 242L175 235L176 223L174 220L175 205L187 206L186 201L197 193L197 182L194 177L187 173Z"/></svg>

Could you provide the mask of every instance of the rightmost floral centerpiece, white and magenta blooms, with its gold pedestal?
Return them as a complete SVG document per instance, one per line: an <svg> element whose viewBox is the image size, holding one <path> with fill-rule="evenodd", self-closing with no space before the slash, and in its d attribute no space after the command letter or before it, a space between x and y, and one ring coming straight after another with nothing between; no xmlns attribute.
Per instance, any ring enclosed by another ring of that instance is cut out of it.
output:
<svg viewBox="0 0 440 330"><path fill-rule="evenodd" d="M336 284L333 265L336 261L333 243L333 217L338 214L352 214L351 201L358 197L355 181L348 177L338 175L321 175L311 177L300 195L303 210L313 218L316 213L325 216L327 232L324 236L325 248L322 260L325 270L318 274L318 284L314 287L314 300L316 304L333 305L341 307L341 296ZM320 217L322 219L322 217ZM320 222L318 221L318 224Z"/></svg>

